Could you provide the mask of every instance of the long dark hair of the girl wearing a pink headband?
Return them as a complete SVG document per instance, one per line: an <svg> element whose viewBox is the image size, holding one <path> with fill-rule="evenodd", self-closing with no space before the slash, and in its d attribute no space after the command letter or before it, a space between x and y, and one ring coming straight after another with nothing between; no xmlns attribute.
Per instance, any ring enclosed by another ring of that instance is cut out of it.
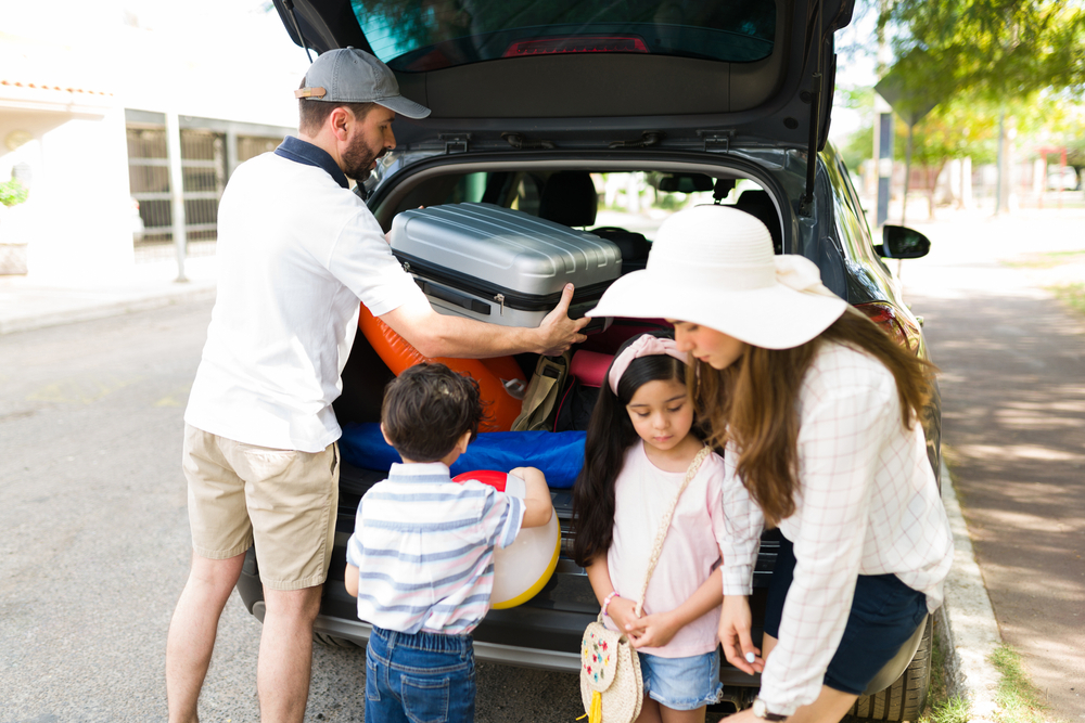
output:
<svg viewBox="0 0 1085 723"><path fill-rule="evenodd" d="M626 340L614 358L640 336ZM668 332L653 336L672 338ZM617 384L617 396L611 391L610 369L607 370L588 422L584 467L573 487L573 559L580 567L587 567L597 555L607 554L614 539L614 481L622 472L626 450L639 439L625 408L637 389L655 379L677 379L685 384L686 364L667 354L634 359Z"/></svg>

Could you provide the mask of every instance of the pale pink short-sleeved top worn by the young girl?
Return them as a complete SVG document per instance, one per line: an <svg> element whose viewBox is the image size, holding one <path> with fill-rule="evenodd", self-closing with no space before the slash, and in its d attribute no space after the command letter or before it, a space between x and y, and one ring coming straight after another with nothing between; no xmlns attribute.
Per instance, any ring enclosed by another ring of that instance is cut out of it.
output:
<svg viewBox="0 0 1085 723"><path fill-rule="evenodd" d="M718 566L724 534L723 476L723 459L709 454L682 492L648 585L644 615L675 609ZM626 451L622 473L614 482L614 540L607 553L611 584L622 597L637 602L663 515L684 479L685 469L663 472L652 464L640 439ZM604 622L616 630L609 617ZM716 649L718 624L716 607L679 630L665 646L639 650L663 658L711 653Z"/></svg>

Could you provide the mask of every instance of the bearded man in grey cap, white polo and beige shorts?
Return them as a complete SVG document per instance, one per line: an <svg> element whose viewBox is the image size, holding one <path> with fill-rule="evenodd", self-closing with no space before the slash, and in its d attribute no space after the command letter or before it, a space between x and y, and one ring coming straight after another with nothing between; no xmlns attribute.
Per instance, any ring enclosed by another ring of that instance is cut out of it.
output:
<svg viewBox="0 0 1085 723"><path fill-rule="evenodd" d="M430 113L386 65L330 51L295 95L298 138L239 167L219 206L218 296L184 415L193 555L166 647L173 723L197 720L219 616L254 543L260 714L303 719L339 495L331 404L358 299L427 357L553 354L585 338L587 320L567 317L572 285L538 328L502 327L438 315L400 268L347 182L395 147L396 113Z"/></svg>

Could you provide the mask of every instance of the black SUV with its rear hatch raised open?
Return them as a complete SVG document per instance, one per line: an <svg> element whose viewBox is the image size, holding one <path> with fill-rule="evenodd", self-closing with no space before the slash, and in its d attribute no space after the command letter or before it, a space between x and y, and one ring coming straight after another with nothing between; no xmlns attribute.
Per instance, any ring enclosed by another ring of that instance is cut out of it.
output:
<svg viewBox="0 0 1085 723"><path fill-rule="evenodd" d="M432 109L423 120L396 120L397 147L359 190L385 230L406 209L461 202L588 231L602 221L647 238L623 246L628 271L643 267L659 220L616 214L616 206L646 197L656 208L733 204L765 222L777 253L813 260L829 288L926 356L920 322L882 259L922 256L929 242L885 227L875 245L847 170L826 143L833 33L851 21L853 3L275 0L296 43L317 52L347 46L372 52L396 73L406 96ZM534 360L519 361L529 375ZM341 423L379 421L391 376L359 334L335 404ZM937 402L928 412L937 470ZM343 466L335 557L316 623L327 644L368 640L370 628L358 620L342 577L358 501L387 472L372 466L363 460ZM474 633L481 660L579 669L580 635L599 606L584 570L567 555L570 490L552 496L563 538L556 573L527 603L487 615ZM751 598L755 642L774 534L762 544ZM263 619L252 551L238 588ZM918 720L930 637L928 621L852 713ZM726 661L720 679L736 709L756 695L757 677Z"/></svg>

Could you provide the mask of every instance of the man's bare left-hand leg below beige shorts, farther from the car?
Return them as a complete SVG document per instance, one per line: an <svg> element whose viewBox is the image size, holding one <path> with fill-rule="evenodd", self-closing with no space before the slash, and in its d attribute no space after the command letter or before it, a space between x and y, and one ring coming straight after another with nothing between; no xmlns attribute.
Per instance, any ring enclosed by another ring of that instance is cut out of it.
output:
<svg viewBox="0 0 1085 723"><path fill-rule="evenodd" d="M215 648L218 619L238 583L244 554L208 559L193 553L166 640L166 703L170 723L195 723L196 701Z"/></svg>

